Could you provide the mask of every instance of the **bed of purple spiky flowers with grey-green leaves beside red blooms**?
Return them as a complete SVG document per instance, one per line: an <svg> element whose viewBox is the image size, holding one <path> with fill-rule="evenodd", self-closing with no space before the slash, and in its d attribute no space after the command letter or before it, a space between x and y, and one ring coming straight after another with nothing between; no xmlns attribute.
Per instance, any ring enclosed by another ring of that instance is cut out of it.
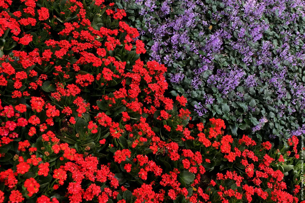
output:
<svg viewBox="0 0 305 203"><path fill-rule="evenodd" d="M194 119L264 140L305 133L304 1L115 2Z"/></svg>

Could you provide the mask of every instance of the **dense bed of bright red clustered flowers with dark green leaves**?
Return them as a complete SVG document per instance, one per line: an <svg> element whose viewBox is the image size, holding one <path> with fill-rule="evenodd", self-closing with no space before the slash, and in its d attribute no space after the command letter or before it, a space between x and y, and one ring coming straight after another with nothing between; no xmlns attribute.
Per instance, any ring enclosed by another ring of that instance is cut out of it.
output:
<svg viewBox="0 0 305 203"><path fill-rule="evenodd" d="M299 203L299 139L193 121L104 4L0 1L0 203Z"/></svg>

